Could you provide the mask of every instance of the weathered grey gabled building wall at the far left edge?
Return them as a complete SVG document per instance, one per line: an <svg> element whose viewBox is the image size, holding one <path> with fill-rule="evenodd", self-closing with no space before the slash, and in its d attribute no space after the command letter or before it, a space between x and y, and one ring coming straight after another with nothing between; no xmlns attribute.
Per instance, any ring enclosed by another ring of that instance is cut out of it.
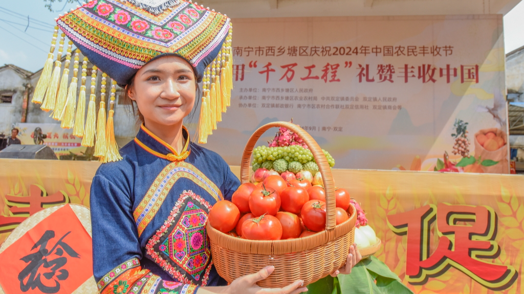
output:
<svg viewBox="0 0 524 294"><path fill-rule="evenodd" d="M13 93L11 103L0 103L0 133L11 134L14 123L22 117L24 84L28 81L9 67L0 69L0 93Z"/></svg>

